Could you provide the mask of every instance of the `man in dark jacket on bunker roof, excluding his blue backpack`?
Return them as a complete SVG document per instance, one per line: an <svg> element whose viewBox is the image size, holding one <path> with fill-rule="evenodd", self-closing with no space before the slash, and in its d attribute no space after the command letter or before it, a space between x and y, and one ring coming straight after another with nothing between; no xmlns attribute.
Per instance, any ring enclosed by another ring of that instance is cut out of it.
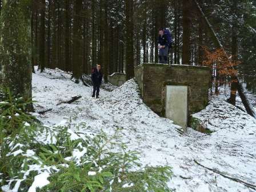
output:
<svg viewBox="0 0 256 192"><path fill-rule="evenodd" d="M169 42L167 39L167 35L164 34L164 29L159 29L158 36L158 49L159 49L159 63L168 63L168 51L169 51Z"/></svg>

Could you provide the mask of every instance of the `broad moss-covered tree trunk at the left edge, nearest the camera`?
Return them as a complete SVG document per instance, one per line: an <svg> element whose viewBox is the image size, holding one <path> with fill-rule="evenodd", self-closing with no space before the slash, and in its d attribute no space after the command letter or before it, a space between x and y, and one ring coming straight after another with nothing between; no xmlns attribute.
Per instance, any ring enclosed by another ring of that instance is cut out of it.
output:
<svg viewBox="0 0 256 192"><path fill-rule="evenodd" d="M1 10L0 39L1 84L9 87L16 97L31 98L31 16L29 1L7 1ZM10 34L11 31L11 34ZM26 106L28 111L33 106Z"/></svg>

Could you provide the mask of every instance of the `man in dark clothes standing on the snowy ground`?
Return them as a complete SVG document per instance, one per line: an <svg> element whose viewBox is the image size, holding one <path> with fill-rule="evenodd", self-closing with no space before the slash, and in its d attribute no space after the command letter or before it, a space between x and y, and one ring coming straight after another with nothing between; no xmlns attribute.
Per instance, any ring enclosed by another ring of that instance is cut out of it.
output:
<svg viewBox="0 0 256 192"><path fill-rule="evenodd" d="M96 98L99 98L99 87L102 83L102 76L101 65L97 65L91 73L91 81L93 81L93 95L91 95L91 97L95 97L96 92Z"/></svg>

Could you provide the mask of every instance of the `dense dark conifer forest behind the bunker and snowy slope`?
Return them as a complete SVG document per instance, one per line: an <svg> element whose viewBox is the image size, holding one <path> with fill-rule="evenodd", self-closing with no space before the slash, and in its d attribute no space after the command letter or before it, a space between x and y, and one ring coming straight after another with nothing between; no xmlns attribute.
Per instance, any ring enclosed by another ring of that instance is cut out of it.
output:
<svg viewBox="0 0 256 192"><path fill-rule="evenodd" d="M255 2L198 1L230 55L241 61L239 75L255 91ZM202 65L204 47L214 39L194 1L33 1L31 5L32 64L73 71L79 79L91 67L107 75L158 62L160 27L170 29L169 63ZM3 10L4 11L4 10ZM3 12L3 14L5 14ZM183 46L184 43L184 46Z"/></svg>

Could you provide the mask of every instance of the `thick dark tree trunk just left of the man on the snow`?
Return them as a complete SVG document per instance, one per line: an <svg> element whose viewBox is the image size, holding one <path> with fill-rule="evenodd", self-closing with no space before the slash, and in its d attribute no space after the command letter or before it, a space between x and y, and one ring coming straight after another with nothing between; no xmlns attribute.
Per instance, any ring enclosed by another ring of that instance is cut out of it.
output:
<svg viewBox="0 0 256 192"><path fill-rule="evenodd" d="M73 24L73 77L75 82L79 82L82 77L81 65L81 40L82 40L82 27L81 27L81 10L82 0L77 0L74 3L74 24Z"/></svg>

